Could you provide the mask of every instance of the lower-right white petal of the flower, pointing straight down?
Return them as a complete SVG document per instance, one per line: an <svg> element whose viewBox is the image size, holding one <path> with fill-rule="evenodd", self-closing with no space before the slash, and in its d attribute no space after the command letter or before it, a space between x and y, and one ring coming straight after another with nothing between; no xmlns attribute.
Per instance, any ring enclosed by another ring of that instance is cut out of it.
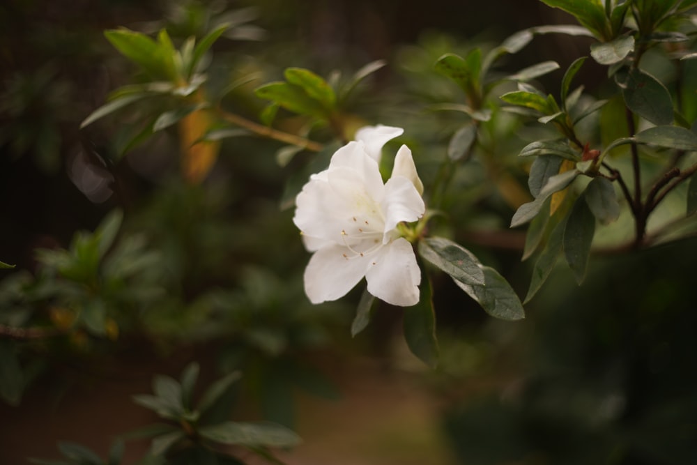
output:
<svg viewBox="0 0 697 465"><path fill-rule="evenodd" d="M421 270L405 238L383 246L372 260L365 278L368 292L392 305L409 307L419 302Z"/></svg>

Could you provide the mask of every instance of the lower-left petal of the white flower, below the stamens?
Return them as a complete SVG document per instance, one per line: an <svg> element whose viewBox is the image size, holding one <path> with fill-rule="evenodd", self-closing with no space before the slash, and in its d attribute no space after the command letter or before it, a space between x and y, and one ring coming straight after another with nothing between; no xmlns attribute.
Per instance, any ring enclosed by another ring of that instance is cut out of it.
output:
<svg viewBox="0 0 697 465"><path fill-rule="evenodd" d="M337 300L358 284L370 264L367 257L346 259L351 251L331 245L314 252L305 268L305 294L312 303Z"/></svg>

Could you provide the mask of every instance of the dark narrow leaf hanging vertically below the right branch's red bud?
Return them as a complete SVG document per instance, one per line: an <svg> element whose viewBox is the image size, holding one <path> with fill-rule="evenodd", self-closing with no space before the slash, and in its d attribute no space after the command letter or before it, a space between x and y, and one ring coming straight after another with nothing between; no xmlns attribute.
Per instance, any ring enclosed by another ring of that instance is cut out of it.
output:
<svg viewBox="0 0 697 465"><path fill-rule="evenodd" d="M585 277L594 234L595 216L588 208L585 196L581 195L576 199L564 229L564 256L579 284Z"/></svg>

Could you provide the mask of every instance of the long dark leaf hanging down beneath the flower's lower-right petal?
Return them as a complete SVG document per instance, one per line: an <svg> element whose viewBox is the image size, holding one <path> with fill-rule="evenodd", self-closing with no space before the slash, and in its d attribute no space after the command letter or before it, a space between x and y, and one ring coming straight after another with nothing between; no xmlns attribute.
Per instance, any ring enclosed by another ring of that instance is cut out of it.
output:
<svg viewBox="0 0 697 465"><path fill-rule="evenodd" d="M421 268L419 302L411 307L404 307L404 340L406 340L411 353L434 369L438 365L436 313L434 312L431 280L424 272L423 267Z"/></svg>

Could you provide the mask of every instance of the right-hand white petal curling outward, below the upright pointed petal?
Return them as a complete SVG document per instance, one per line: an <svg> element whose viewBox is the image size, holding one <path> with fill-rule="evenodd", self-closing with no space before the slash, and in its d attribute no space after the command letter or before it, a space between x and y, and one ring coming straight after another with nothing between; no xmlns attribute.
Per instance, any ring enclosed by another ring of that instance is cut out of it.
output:
<svg viewBox="0 0 697 465"><path fill-rule="evenodd" d="M413 183L402 176L392 177L385 184L382 204L385 216L385 233L392 231L402 221L413 222L424 215L426 206ZM385 234L385 240L389 236Z"/></svg>

